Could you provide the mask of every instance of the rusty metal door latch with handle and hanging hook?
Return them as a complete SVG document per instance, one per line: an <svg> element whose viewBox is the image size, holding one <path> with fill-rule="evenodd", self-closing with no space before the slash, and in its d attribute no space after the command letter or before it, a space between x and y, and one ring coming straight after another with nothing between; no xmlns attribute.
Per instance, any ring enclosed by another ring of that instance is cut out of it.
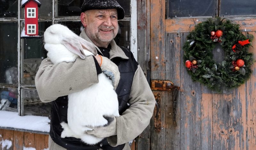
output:
<svg viewBox="0 0 256 150"><path fill-rule="evenodd" d="M172 108L173 108L173 125L177 126L176 123L176 104L178 97L178 90L180 90L179 86L174 86L171 81L168 80L151 80L151 90L158 91L173 91L172 93ZM156 107L155 107L155 117L154 117L154 125L155 131L161 131L161 95L160 93L155 93L156 99Z"/></svg>

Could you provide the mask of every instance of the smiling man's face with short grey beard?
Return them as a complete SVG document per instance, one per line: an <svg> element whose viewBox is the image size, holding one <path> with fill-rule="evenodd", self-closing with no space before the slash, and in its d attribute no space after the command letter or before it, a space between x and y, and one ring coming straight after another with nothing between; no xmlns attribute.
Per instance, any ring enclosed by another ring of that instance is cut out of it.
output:
<svg viewBox="0 0 256 150"><path fill-rule="evenodd" d="M82 14L81 14L82 16ZM116 9L85 11L85 32L99 47L106 47L118 32Z"/></svg>

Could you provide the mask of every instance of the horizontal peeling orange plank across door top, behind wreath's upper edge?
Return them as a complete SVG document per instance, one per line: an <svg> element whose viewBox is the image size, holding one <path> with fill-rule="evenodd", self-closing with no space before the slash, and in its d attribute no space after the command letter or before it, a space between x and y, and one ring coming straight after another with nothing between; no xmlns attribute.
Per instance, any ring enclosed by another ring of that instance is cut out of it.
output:
<svg viewBox="0 0 256 150"><path fill-rule="evenodd" d="M225 17L226 18L226 17ZM187 33L195 29L195 25L199 22L205 21L208 18L173 18L165 20L166 33ZM255 17L228 17L226 19L234 21L239 24L240 30L256 31Z"/></svg>

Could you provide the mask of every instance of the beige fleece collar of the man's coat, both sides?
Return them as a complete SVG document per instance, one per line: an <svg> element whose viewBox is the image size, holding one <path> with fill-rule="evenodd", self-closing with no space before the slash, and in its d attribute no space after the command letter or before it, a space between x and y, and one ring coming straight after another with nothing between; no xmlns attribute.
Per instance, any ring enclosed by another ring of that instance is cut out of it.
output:
<svg viewBox="0 0 256 150"><path fill-rule="evenodd" d="M86 41L91 42L91 43L96 47L96 49L98 49L98 51L101 53L101 51L100 51L100 49L98 48L98 46L96 46L96 45L92 42L92 40L86 35L84 29L82 30L82 32L81 32L81 34L80 34L80 37L83 38L83 39L86 40ZM129 59L129 58L125 55L124 51L123 51L119 46L116 45L116 42L115 42L114 40L112 40L112 41L110 42L110 46L111 46L111 49L110 49L110 51L109 51L109 59L112 59L112 58L114 58L114 57L121 57L121 58L123 58L123 59ZM102 54L102 53L101 53L101 54Z"/></svg>

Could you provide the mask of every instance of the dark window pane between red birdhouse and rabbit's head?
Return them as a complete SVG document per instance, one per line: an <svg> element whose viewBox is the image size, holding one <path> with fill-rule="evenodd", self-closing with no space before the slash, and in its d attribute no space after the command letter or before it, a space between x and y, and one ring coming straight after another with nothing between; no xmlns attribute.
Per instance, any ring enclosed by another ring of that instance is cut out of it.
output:
<svg viewBox="0 0 256 150"><path fill-rule="evenodd" d="M50 21L39 21L39 36L42 36L44 34L43 31L51 25L52 22ZM35 30L32 30L32 32L35 32ZM35 85L36 71L47 54L46 50L44 50L43 40L42 38L22 39L21 49L24 54L22 66L23 76L21 77L22 85Z"/></svg>

